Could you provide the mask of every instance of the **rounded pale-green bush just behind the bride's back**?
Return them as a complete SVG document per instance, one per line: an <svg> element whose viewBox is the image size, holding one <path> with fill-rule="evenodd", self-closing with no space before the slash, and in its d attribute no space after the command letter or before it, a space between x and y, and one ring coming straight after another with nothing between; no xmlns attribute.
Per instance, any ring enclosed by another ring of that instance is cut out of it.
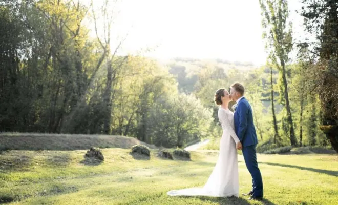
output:
<svg viewBox="0 0 338 205"><path fill-rule="evenodd" d="M187 142L209 136L213 120L194 95L173 95L160 98L147 119L153 144L182 148Z"/></svg>

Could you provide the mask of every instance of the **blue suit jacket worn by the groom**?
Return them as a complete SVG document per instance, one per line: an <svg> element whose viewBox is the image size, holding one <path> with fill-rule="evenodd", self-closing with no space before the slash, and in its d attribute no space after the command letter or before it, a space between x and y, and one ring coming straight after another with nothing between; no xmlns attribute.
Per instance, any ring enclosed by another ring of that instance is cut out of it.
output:
<svg viewBox="0 0 338 205"><path fill-rule="evenodd" d="M257 145L257 134L248 100L243 97L237 104L234 114L235 132L243 147Z"/></svg>

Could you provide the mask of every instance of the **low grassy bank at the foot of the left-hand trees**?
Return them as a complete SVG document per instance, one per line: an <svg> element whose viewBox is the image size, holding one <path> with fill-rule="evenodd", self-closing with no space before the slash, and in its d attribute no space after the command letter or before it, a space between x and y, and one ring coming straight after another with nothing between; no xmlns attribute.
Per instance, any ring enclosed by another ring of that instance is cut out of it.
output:
<svg viewBox="0 0 338 205"><path fill-rule="evenodd" d="M131 148L146 144L133 137L84 134L0 133L0 151L4 150L86 150L99 148Z"/></svg>

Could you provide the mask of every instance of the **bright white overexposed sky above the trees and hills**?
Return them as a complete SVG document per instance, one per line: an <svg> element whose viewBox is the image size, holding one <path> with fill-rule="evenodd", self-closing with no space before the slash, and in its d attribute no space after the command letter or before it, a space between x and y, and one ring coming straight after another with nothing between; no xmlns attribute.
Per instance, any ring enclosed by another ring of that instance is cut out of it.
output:
<svg viewBox="0 0 338 205"><path fill-rule="evenodd" d="M94 0L95 6L102 3ZM126 36L121 53L142 52L159 59L220 58L266 63L258 0L121 0L112 8L114 13L118 11L112 28L113 39L117 40L112 47ZM290 0L296 38L303 35L302 18L294 12L297 8L298 0ZM102 19L99 24L102 34ZM90 25L93 28L93 23ZM91 35L95 37L95 32Z"/></svg>

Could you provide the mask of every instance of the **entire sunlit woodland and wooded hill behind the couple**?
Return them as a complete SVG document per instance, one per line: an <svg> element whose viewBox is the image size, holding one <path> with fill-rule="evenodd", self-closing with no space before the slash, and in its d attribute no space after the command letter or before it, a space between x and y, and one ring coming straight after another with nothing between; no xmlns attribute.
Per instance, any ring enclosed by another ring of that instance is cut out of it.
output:
<svg viewBox="0 0 338 205"><path fill-rule="evenodd" d="M338 151L338 3L303 3L304 27L315 42L293 41L287 1L260 1L269 58L257 68L121 56L123 40L111 39L109 1L99 10L81 1L0 1L0 131L125 135L184 147L220 137L214 93L239 81L261 146ZM88 19L96 38L83 23ZM292 50L299 54L291 62Z"/></svg>

